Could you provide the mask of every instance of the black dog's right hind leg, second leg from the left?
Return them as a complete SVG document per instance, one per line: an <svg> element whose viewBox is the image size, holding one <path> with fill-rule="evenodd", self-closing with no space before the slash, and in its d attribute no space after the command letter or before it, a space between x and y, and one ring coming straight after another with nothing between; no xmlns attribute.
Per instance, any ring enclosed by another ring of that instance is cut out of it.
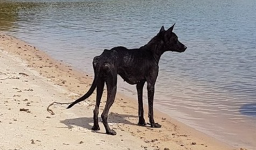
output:
<svg viewBox="0 0 256 150"><path fill-rule="evenodd" d="M112 106L115 100L116 84L117 84L117 72L115 71L115 69L111 68L109 69L108 75L106 77L106 86L108 91L107 101L106 101L105 108L101 114L103 125L106 130L106 134L110 134L110 135L116 135L116 132L113 129L110 129L108 125L108 113L109 113L110 107Z"/></svg>

